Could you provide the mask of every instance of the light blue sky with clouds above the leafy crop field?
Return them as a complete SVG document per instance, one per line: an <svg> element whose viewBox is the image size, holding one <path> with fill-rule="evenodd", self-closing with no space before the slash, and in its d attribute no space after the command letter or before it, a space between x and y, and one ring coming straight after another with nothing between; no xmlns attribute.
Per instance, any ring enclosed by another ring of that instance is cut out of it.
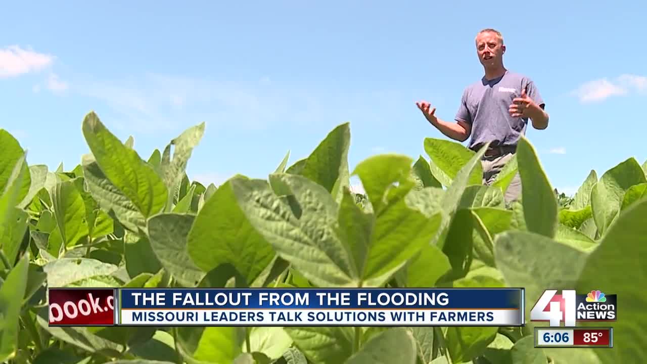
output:
<svg viewBox="0 0 647 364"><path fill-rule="evenodd" d="M479 4L479 5L477 5ZM192 179L266 177L351 123L351 168L424 154L444 138L415 107L453 119L483 68L474 36L503 32L508 69L531 77L551 115L529 130L554 187L573 193L628 157L647 159L647 49L640 2L10 1L0 22L0 128L30 164L66 170L88 152L96 111L148 158L206 122Z"/></svg>

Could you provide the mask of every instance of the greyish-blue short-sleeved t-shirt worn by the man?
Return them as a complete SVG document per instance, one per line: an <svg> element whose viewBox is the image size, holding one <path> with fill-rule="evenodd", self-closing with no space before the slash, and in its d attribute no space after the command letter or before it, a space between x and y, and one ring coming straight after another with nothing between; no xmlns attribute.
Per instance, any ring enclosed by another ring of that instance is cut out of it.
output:
<svg viewBox="0 0 647 364"><path fill-rule="evenodd" d="M506 71L501 77L493 80L483 77L466 87L455 120L472 125L468 148L478 150L485 142L491 142L490 146L517 144L521 135L525 135L528 119L510 116L509 108L514 98L521 97L524 88L526 95L543 109L537 87L523 74Z"/></svg>

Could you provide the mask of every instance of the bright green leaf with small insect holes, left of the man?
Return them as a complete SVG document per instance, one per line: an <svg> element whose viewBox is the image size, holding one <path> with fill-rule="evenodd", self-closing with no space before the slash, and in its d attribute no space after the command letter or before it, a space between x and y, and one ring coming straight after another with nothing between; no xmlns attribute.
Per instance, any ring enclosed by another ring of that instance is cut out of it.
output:
<svg viewBox="0 0 647 364"><path fill-rule="evenodd" d="M359 176L362 186L375 213L386 205L386 193L394 183L403 182L411 170L410 157L397 154L382 154L361 161L352 176Z"/></svg>

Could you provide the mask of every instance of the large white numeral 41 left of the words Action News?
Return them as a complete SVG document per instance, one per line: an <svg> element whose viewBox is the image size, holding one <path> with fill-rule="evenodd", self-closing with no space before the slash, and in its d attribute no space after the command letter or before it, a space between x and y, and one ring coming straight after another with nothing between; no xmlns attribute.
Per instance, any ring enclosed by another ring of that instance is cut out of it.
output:
<svg viewBox="0 0 647 364"><path fill-rule="evenodd" d="M532 307L530 321L549 321L550 326L575 326L575 290L545 290Z"/></svg>

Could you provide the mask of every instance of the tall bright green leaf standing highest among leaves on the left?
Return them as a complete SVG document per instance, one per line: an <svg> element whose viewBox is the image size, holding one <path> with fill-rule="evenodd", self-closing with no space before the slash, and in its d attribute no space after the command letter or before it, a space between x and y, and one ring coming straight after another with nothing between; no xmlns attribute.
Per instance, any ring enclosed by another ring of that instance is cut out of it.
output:
<svg viewBox="0 0 647 364"><path fill-rule="evenodd" d="M107 179L140 214L148 218L164 209L168 189L162 179L135 150L124 146L108 131L94 112L83 120L83 135Z"/></svg>

